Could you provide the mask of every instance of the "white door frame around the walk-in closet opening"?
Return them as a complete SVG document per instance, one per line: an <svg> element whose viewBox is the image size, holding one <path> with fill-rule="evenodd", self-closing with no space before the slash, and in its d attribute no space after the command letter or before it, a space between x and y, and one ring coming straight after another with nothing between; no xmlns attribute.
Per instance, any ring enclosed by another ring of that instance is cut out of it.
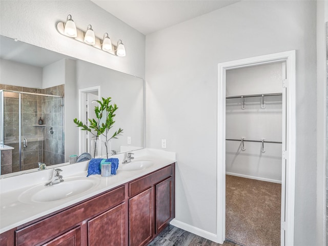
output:
<svg viewBox="0 0 328 246"><path fill-rule="evenodd" d="M295 210L295 158L296 158L296 66L295 50L227 61L218 64L218 115L217 115L217 242L226 239L226 71L236 68L263 65L276 61L286 63L286 160L285 181L285 246L294 245ZM283 244L282 244L283 245Z"/></svg>

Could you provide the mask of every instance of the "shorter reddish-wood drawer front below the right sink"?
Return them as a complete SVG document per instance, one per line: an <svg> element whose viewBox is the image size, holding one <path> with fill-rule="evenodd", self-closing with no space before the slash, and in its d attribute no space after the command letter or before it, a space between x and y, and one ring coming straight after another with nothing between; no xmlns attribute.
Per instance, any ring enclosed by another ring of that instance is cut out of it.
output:
<svg viewBox="0 0 328 246"><path fill-rule="evenodd" d="M155 185L156 183L172 176L172 165L151 173L145 177L139 178L129 183L129 196L134 196L147 188Z"/></svg>

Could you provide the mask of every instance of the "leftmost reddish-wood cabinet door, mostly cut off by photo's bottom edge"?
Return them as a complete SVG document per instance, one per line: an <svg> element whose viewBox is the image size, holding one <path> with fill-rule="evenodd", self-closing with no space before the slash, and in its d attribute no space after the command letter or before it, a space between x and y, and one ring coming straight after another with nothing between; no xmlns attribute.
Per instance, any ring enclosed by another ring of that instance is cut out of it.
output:
<svg viewBox="0 0 328 246"><path fill-rule="evenodd" d="M73 230L60 235L43 246L80 246L81 245L81 228L77 227Z"/></svg>

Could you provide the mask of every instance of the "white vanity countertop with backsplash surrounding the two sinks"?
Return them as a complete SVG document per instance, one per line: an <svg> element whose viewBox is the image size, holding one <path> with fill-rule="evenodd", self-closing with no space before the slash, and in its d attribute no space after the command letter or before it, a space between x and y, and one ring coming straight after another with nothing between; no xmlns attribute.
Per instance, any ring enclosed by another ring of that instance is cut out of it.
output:
<svg viewBox="0 0 328 246"><path fill-rule="evenodd" d="M25 203L19 199L19 196L28 189L50 180L52 178L53 166L51 168L48 167L47 170L43 171L0 179L0 233L6 232L20 226L21 224L60 209L64 209L102 192L111 190L119 185L154 172L176 161L176 155L173 152L155 149L142 149L132 152L134 153L135 160L151 159L154 162L154 165L147 169L138 171L124 171L121 170L122 165L124 165L121 164L123 154L112 156L113 158L116 157L119 159L119 167L116 175L110 177L92 175L92 177L99 179L99 185L91 188L87 192L62 200ZM63 170L61 175L63 175L64 180L65 178L72 176L86 176L88 163L89 161L84 161L72 165L61 166L60 169Z"/></svg>

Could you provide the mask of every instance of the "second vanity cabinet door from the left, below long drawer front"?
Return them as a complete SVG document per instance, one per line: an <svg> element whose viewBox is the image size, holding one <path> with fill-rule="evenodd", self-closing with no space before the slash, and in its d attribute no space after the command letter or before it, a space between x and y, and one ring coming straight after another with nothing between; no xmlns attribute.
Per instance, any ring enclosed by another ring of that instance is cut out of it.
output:
<svg viewBox="0 0 328 246"><path fill-rule="evenodd" d="M125 211L122 203L88 221L89 246L125 245Z"/></svg>

